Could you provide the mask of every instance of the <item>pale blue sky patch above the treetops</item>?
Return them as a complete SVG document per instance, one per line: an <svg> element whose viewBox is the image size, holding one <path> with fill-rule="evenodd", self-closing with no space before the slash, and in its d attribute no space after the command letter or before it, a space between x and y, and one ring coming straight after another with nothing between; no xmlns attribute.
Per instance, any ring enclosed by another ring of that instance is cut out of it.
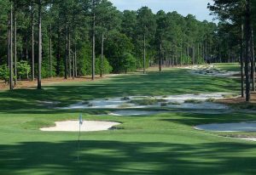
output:
<svg viewBox="0 0 256 175"><path fill-rule="evenodd" d="M212 0L110 0L110 2L121 11L137 10L147 6L154 13L162 9L166 12L177 11L183 16L194 14L198 20L212 21L213 19L207 9L207 3L212 3Z"/></svg>

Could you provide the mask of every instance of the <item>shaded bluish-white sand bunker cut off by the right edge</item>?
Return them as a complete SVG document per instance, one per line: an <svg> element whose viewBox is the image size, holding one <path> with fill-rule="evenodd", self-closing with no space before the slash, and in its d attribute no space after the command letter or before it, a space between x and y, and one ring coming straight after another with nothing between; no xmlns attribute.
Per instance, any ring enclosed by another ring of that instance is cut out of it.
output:
<svg viewBox="0 0 256 175"><path fill-rule="evenodd" d="M256 121L199 125L195 129L212 132L256 132Z"/></svg>

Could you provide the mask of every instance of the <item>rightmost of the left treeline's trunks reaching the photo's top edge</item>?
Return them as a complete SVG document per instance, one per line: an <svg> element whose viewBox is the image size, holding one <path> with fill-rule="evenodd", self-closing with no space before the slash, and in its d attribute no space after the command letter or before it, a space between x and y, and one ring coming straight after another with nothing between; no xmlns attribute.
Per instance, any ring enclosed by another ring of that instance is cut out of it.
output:
<svg viewBox="0 0 256 175"><path fill-rule="evenodd" d="M96 14L95 14L95 0L93 0L93 14L92 14L92 55L91 55L91 79L95 80L95 27L96 27Z"/></svg>

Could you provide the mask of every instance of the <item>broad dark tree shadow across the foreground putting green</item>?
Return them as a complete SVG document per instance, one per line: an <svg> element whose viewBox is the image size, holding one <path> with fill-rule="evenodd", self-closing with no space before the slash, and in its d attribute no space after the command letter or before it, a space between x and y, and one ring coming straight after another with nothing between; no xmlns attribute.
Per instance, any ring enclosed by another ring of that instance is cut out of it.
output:
<svg viewBox="0 0 256 175"><path fill-rule="evenodd" d="M3 174L255 174L254 144L87 140L0 145Z"/></svg>

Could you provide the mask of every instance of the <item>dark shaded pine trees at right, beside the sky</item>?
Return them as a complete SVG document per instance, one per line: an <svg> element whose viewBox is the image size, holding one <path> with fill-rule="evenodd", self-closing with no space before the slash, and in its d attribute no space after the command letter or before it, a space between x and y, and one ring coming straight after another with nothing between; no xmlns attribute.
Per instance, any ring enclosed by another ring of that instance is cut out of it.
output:
<svg viewBox="0 0 256 175"><path fill-rule="evenodd" d="M246 101L255 92L255 54L253 31L256 30L255 0L214 0L208 8L218 17L219 55L240 58L241 96ZM239 55L239 56L237 56ZM221 58L221 56L220 56Z"/></svg>

